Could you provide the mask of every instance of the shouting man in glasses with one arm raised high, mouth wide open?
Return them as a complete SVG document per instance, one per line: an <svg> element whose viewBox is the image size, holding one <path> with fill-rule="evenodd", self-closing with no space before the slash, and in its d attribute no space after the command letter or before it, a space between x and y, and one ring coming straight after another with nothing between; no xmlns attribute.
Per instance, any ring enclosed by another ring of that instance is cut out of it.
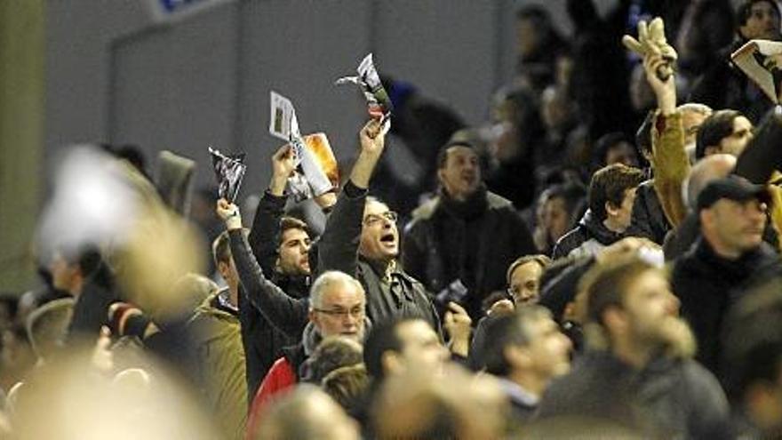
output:
<svg viewBox="0 0 782 440"><path fill-rule="evenodd" d="M361 150L321 236L320 270L355 275L367 296L367 316L373 323L395 316L419 316L440 331L440 318L426 288L398 264L399 230L396 213L387 204L367 196L372 172L385 148L379 121L364 125ZM450 305L446 325L469 320L463 308ZM463 325L457 325L463 329ZM469 329L454 332L451 349L467 356Z"/></svg>

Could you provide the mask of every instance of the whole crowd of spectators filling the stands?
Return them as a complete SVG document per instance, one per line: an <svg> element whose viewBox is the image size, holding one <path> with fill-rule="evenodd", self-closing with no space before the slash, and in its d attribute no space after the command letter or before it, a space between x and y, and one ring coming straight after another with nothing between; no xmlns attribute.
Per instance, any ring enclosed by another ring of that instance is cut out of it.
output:
<svg viewBox="0 0 782 440"><path fill-rule="evenodd" d="M517 12L483 126L384 77L323 224L291 145L252 210L93 152L132 209L42 220L0 437L782 438L782 108L730 62L779 4L567 9L570 40Z"/></svg>

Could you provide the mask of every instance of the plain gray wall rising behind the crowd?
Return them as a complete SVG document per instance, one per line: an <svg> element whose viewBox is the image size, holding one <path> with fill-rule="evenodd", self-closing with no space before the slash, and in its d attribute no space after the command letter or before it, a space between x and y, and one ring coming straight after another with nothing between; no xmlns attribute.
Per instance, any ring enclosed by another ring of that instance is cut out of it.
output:
<svg viewBox="0 0 782 440"><path fill-rule="evenodd" d="M523 3L235 0L160 26L141 1L49 0L46 152L108 140L154 160L168 148L198 161L203 184L207 145L244 150L247 195L265 186L279 144L267 134L270 89L293 100L303 132L328 132L337 155L352 156L363 101L331 83L370 51L381 72L478 124L511 74Z"/></svg>

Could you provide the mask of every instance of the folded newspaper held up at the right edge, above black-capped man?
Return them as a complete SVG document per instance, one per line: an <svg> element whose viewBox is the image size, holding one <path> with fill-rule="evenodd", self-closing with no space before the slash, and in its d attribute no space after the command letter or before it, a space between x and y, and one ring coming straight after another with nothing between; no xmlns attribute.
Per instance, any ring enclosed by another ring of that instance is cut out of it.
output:
<svg viewBox="0 0 782 440"><path fill-rule="evenodd" d="M750 40L730 55L733 63L749 76L774 104L779 104L782 81L782 42Z"/></svg>

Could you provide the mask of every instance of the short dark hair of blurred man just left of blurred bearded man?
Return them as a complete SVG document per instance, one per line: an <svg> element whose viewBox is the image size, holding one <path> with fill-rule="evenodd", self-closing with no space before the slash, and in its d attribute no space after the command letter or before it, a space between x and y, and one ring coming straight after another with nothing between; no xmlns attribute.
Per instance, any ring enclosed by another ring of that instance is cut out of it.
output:
<svg viewBox="0 0 782 440"><path fill-rule="evenodd" d="M499 316L492 319L486 326L486 344L483 348L486 372L496 376L507 376L511 365L507 362L505 349L508 346L524 346L532 342L528 325L544 317L551 317L551 312L542 306L519 308L512 315Z"/></svg>

